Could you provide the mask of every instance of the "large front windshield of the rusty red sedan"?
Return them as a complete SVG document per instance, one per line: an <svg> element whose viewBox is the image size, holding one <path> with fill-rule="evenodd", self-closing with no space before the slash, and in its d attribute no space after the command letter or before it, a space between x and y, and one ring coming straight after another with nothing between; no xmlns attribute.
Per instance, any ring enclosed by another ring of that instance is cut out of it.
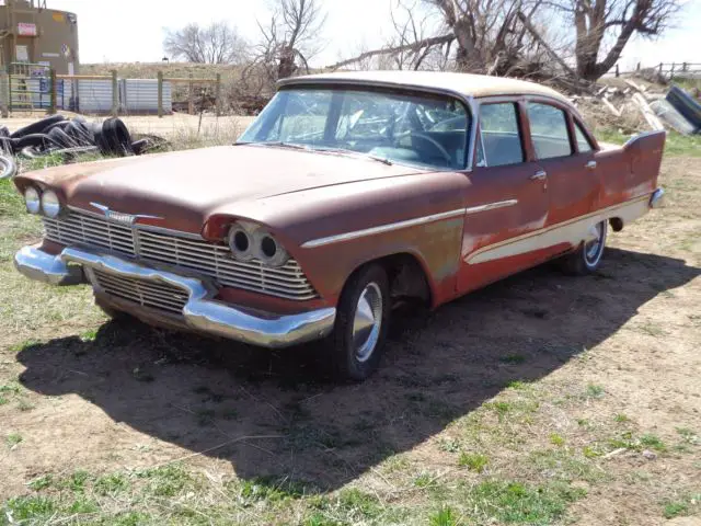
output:
<svg viewBox="0 0 701 526"><path fill-rule="evenodd" d="M455 99L380 91L279 91L239 144L367 155L386 162L463 169L469 114Z"/></svg>

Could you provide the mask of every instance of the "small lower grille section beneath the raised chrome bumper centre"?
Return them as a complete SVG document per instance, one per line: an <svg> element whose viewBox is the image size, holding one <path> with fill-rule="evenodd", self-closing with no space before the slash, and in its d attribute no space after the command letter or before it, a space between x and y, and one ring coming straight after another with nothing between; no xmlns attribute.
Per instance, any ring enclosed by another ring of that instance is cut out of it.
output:
<svg viewBox="0 0 701 526"><path fill-rule="evenodd" d="M92 268L95 285L111 296L135 301L143 307L181 315L187 302L187 293L165 283L116 276Z"/></svg>

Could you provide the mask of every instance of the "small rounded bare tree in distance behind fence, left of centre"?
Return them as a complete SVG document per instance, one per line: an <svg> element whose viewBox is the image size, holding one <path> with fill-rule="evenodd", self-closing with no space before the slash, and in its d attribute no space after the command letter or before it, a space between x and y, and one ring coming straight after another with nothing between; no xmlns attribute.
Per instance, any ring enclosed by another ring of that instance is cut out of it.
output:
<svg viewBox="0 0 701 526"><path fill-rule="evenodd" d="M163 49L175 59L198 64L237 64L242 61L245 42L235 27L214 22L207 27L192 23L168 31Z"/></svg>

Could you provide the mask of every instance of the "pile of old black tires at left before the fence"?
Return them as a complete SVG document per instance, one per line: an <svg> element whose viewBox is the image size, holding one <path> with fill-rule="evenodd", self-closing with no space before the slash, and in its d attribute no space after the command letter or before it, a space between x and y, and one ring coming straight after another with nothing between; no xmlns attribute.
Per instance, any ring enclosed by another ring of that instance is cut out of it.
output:
<svg viewBox="0 0 701 526"><path fill-rule="evenodd" d="M150 138L133 140L124 122L116 117L89 123L81 116L69 119L53 115L13 133L0 126L0 179L16 173L15 156L36 159L59 155L71 162L84 153L138 156L151 146Z"/></svg>

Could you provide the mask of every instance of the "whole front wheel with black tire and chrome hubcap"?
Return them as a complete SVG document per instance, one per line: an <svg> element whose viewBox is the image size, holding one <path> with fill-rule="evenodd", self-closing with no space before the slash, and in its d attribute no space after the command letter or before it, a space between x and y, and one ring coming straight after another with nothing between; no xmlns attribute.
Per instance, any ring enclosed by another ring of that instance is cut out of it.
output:
<svg viewBox="0 0 701 526"><path fill-rule="evenodd" d="M367 265L348 278L338 300L329 342L336 376L361 381L377 369L390 312L389 281L382 266Z"/></svg>

